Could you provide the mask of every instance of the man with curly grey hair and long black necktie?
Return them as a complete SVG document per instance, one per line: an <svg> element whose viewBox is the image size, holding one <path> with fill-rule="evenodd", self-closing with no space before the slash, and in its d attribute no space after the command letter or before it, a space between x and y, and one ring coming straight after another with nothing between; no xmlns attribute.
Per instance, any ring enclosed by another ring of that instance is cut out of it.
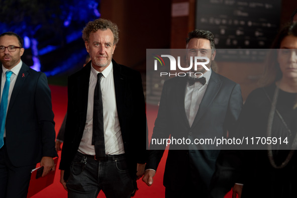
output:
<svg viewBox="0 0 297 198"><path fill-rule="evenodd" d="M146 114L139 72L112 57L116 24L88 22L82 31L91 61L68 78L60 182L68 197L130 197L144 172Z"/></svg>

